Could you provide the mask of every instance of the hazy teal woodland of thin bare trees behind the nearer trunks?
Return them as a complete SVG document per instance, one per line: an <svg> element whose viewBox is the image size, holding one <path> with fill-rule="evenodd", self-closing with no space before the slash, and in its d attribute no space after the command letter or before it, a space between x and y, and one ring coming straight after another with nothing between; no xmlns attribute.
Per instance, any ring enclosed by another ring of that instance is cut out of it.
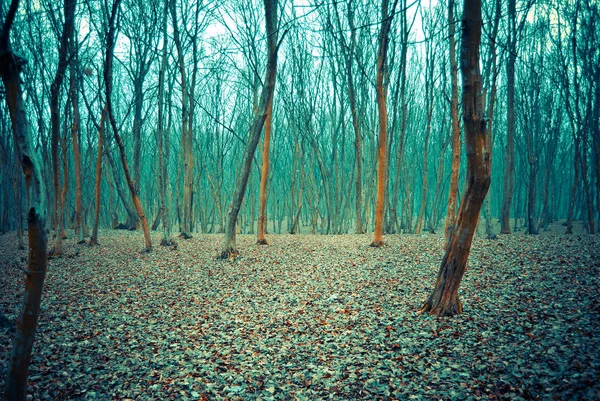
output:
<svg viewBox="0 0 600 401"><path fill-rule="evenodd" d="M160 228L164 207L168 230L223 232L263 85L262 5L123 0L113 15L106 2L72 3L69 11L56 2L25 0L12 32L13 47L27 60L24 98L43 160L50 228L62 224L89 235L99 154L99 226L141 227L113 126L103 116L106 40L114 16L115 127L150 228ZM461 15L453 3L450 15L444 2L394 4L384 79L384 233L444 229L452 210L453 151L463 153L458 201L464 188L464 149L453 142L451 118L449 34L456 30L458 53L460 24L453 22ZM73 14L70 41L63 35L65 10ZM593 233L600 210L598 4L496 0L485 2L482 12L483 95L493 143L492 184L482 213L488 235L521 229L534 234L557 219L567 220L566 230L582 220ZM267 230L370 231L377 193L380 5L286 1L279 14ZM22 232L25 192L5 102L0 124L0 229ZM238 218L242 233L257 230L262 152L259 145Z"/></svg>

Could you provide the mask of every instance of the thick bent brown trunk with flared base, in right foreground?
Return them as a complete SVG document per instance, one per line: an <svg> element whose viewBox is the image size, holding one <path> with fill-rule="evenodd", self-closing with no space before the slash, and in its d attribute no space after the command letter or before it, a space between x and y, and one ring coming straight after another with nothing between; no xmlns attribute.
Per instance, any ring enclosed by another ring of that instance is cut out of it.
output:
<svg viewBox="0 0 600 401"><path fill-rule="evenodd" d="M481 0L465 0L462 18L461 73L463 122L467 147L467 189L458 211L435 288L421 312L453 316L462 312L458 288L467 267L481 206L490 186L491 149L485 131L479 71Z"/></svg>

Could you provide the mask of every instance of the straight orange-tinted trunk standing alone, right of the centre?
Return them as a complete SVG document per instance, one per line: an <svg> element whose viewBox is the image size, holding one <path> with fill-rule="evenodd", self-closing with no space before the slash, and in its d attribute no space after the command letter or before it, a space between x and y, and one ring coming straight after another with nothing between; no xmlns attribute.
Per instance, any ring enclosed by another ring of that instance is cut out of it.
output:
<svg viewBox="0 0 600 401"><path fill-rule="evenodd" d="M392 11L396 8L396 2ZM383 246L383 207L385 204L385 171L387 168L387 105L386 88L383 83L389 32L392 25L392 15L388 15L389 1L381 4L381 30L379 31L379 51L377 52L377 107L379 109L379 151L377 155L377 203L375 204L375 234L371 246Z"/></svg>

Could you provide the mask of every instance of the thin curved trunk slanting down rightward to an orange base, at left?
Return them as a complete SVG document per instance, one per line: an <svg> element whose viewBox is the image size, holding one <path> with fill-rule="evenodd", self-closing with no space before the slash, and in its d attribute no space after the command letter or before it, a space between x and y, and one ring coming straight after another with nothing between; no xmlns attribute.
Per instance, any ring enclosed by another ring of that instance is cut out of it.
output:
<svg viewBox="0 0 600 401"><path fill-rule="evenodd" d="M145 243L145 251L149 252L152 249L152 240L150 239L150 230L148 229L148 220L146 219L146 215L144 214L144 210L142 209L142 204L140 203L140 199L137 195L137 190L135 189L135 184L133 179L131 178L131 174L129 173L129 166L127 165L127 159L125 157L125 146L123 145L123 141L121 136L119 135L119 129L117 127L117 123L115 121L115 117L112 109L112 66L113 66L113 50L115 47L115 19L117 18L117 14L119 12L119 6L121 4L121 0L114 0L112 5L112 11L110 14L107 41L106 41L106 61L104 66L104 84L106 86L106 109L108 120L113 130L113 135L115 136L115 140L117 141L117 145L119 146L119 151L121 154L121 164L123 165L123 172L125 173L125 179L127 181L127 186L129 187L129 191L131 192L131 198L133 200L133 205L135 206L137 215L142 222L142 229L144 230L144 243Z"/></svg>

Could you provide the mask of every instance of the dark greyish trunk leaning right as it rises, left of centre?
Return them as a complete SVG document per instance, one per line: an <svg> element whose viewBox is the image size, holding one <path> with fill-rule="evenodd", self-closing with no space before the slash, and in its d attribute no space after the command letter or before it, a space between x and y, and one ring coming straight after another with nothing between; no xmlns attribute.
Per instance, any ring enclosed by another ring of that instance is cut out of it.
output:
<svg viewBox="0 0 600 401"><path fill-rule="evenodd" d="M263 86L262 93L260 95L260 102L258 110L254 116L254 122L250 127L250 135L248 143L244 151L242 164L240 171L236 178L235 189L233 193L233 200L231 202L231 208L227 216L227 227L225 231L225 242L220 255L221 259L233 259L239 252L235 244L235 228L238 214L244 200L244 194L246 193L246 186L248 185L248 177L250 176L250 169L252 167L252 159L254 152L258 146L260 140L260 134L264 122L267 118L267 108L270 103L273 102L273 94L275 92L275 77L277 74L277 1L276 0L264 0L265 6L265 19L266 19L266 31L267 31L267 48L268 48L268 61L267 61L267 72L265 76L265 85Z"/></svg>

